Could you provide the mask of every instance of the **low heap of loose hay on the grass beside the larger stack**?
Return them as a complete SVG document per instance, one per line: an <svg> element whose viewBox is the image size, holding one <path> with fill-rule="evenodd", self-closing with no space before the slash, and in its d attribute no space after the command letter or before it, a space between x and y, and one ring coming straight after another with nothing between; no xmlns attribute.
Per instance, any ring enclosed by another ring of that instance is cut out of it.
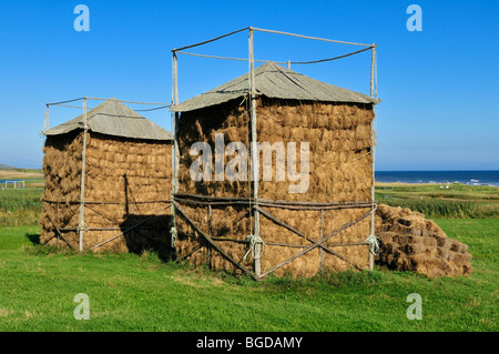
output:
<svg viewBox="0 0 499 354"><path fill-rule="evenodd" d="M447 237L425 215L409 209L378 205L376 236L380 241L376 263L390 270L428 276L459 276L471 272L468 246Z"/></svg>

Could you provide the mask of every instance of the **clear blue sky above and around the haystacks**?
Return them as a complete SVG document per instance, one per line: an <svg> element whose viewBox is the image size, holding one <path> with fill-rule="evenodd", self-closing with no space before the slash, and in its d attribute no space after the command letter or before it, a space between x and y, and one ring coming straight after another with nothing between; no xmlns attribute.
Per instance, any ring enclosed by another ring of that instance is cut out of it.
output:
<svg viewBox="0 0 499 354"><path fill-rule="evenodd" d="M80 3L90 9L89 32L73 28ZM421 32L406 28L411 3L422 9ZM45 102L170 102L171 49L252 26L378 44L377 170L499 170L498 20L498 1L2 0L0 163L41 168ZM305 61L357 49L255 34L256 59ZM191 51L246 58L247 33ZM292 69L368 93L369 64L365 52ZM180 100L246 71L246 62L180 55ZM50 125L78 114L53 108ZM167 111L144 115L171 129Z"/></svg>

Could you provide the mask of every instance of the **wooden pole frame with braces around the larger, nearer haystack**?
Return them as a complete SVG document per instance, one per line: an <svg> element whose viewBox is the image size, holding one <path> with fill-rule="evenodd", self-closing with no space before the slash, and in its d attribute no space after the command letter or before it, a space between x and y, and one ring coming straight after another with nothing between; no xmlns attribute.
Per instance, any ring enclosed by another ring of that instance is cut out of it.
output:
<svg viewBox="0 0 499 354"><path fill-rule="evenodd" d="M208 215L211 215L211 205L214 204L248 204L249 206L249 212L254 213L254 229L253 229L253 234L254 236L256 236L257 240L259 239L259 215L264 215L271 220L273 220L275 223L279 224L281 226L293 231L295 234L298 234L301 236L306 237L304 234L299 233L297 230L293 229L292 226L287 225L286 223L284 223L283 221L276 219L275 216L273 216L272 214L269 214L268 212L264 211L261 206L277 206L278 208L284 208L284 209L295 209L295 210L319 210L320 211L320 240L316 243L314 243L314 245L309 249L307 249L306 251L303 251L299 253L299 255L305 254L306 252L315 249L315 247L319 247L319 254L320 254L320 269L324 267L324 252L330 252L333 254L335 254L336 256L339 256L337 253L335 253L332 250L326 249L323 243L325 241L327 241L332 235L324 237L323 235L323 223L324 223L324 210L328 210L328 209L339 209L339 208L345 208L345 209L349 209L349 208L369 208L369 212L363 216L363 219L367 218L370 215L370 234L375 235L375 210L376 210L376 202L375 202L375 130L374 130L374 120L371 123L371 133L370 133L370 153L373 156L373 186L371 186L371 201L370 202L365 202L365 203L352 203L348 205L348 203L344 203L343 205L313 205L314 203L306 203L306 202L286 202L286 201L263 201L258 199L258 179L257 176L257 171L255 171L255 169L253 166L257 165L256 163L256 159L257 155L255 153L255 149L253 148L254 144L256 144L257 142L257 131L256 131L256 90L255 90L255 61L257 62L262 62L262 60L255 60L254 58L254 47L253 47L253 37L254 37L254 31L261 31L261 32L267 32L267 33L275 33L275 34L284 34L284 36L292 36L292 37L297 37L297 38L304 38L304 39L310 39L310 40L318 40L318 41L326 41L326 42L332 42L332 43L340 43L340 44L350 44L350 45L360 45L360 47L365 47L361 50L345 54L345 55L339 55L339 57L335 57L335 58L328 58L328 59L320 59L320 60L314 60L314 61L308 61L308 62L295 62L295 63L299 63L299 64L307 64L307 63L318 63L318 62L325 62L325 61L332 61L332 60L337 60L337 59L342 59L342 58L346 58L349 55L354 55L367 50L371 51L371 63L370 63L370 97L374 99L375 95L377 95L377 88L375 89L375 74L376 74L376 44L365 44L365 43L356 43L356 42L347 42L347 41L338 41L338 40L330 40L330 39L324 39L324 38L316 38L316 37L309 37L309 36L303 36L303 34L295 34L295 33L288 33L288 32L282 32L282 31L274 31L274 30L266 30L266 29L259 29L259 28L253 28L253 27L246 27L220 37L216 37L214 39L210 39L200 43L195 43L195 44L191 44L191 45L186 45L186 47L182 47L179 49L173 49L172 53L173 53L173 91L174 91L174 105L179 104L179 82L177 82L177 53L182 53L182 54L190 54L190 55L196 55L196 57L204 57L204 58L213 58L213 59L225 59L225 60L244 60L246 61L246 59L238 59L238 58L227 58L227 57L215 57L215 55L205 55L205 54L196 54L196 53L187 53L187 52L183 52L183 50L185 49L190 49L190 48L194 48L194 47L198 47L198 45L203 45L220 39L223 39L225 37L228 36L233 36L235 33L240 33L243 31L248 31L248 59L247 61L249 62L249 114L251 114L251 119L249 119L249 124L251 124L251 139L252 139L252 149L251 149L251 161L252 161L252 198L244 200L244 199L234 199L234 198L227 198L227 199L213 199L213 198L205 198L202 195L180 195L176 194L177 189L175 189L174 194L173 194L173 210L175 209L180 209L180 204L179 202L185 202L185 203L197 203L197 204L205 204L208 205ZM292 61L287 60L285 62L279 62L283 64L287 64L287 68L291 68L291 64L293 63ZM376 90L376 91L375 91ZM177 129L177 124L179 124L179 112L175 112L175 124L174 127ZM175 129L175 143L174 143L174 155L175 155L175 163L174 163L174 169L173 169L173 174L174 174L174 181L175 183L177 183L177 169L179 169L179 164L177 164L177 156L179 156L179 141L177 141L177 134L176 134L176 129ZM256 151L257 152L257 151ZM326 203L327 204L327 203ZM181 210L181 209L180 209ZM203 233L196 225L194 225L194 223L192 222L192 220L190 220L187 218L187 215L184 212L181 212L182 215L184 218L187 219L187 221L192 224L193 227L195 227L203 236L204 239L206 239L206 241L208 241L208 243L218 252L221 252L221 250L218 250L218 247L215 245L214 241L212 239L210 239L208 235L206 235L205 233ZM173 212L173 215L175 215L175 213ZM174 216L175 220L175 216ZM175 222L175 221L174 221ZM356 223L356 222L355 222ZM346 227L348 227L350 225L346 225ZM343 226L342 226L343 227ZM340 229L342 229L340 227ZM175 230L176 232L176 230ZM339 231L338 231L339 232ZM208 232L210 233L210 232ZM175 234L176 236L176 234ZM310 241L310 239L307 237L308 241ZM324 240L324 241L323 241ZM363 242L363 243L352 243L348 245L367 245L367 242ZM254 273L254 279L258 280L262 277L265 277L266 275L268 275L269 273L272 273L275 270L271 270L265 272L264 274L262 274L261 271L261 264L259 264L259 256L261 256L261 252L259 252L259 247L261 247L261 243L256 243L255 244L255 250L254 250L254 269L255 269L255 273ZM211 249L211 247L210 247ZM221 252L224 256L225 253ZM297 256L299 256L297 255ZM288 260L288 262L293 261L295 257L293 257L292 260ZM207 260L210 260L210 255L207 256ZM232 259L230 259L231 262L233 262ZM373 264L374 264L374 256L373 254L369 252L369 269L373 270ZM241 264L235 264L237 267L241 269ZM283 264L284 265L284 264ZM281 265L282 266L282 265ZM248 273L246 270L244 270L246 273Z"/></svg>

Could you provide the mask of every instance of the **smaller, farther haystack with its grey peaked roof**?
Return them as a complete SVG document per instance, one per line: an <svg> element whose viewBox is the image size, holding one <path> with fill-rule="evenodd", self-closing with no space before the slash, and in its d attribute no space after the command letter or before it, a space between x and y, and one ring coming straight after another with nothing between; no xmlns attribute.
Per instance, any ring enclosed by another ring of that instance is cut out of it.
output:
<svg viewBox="0 0 499 354"><path fill-rule="evenodd" d="M86 123L85 149L83 114L44 133L41 243L79 250L82 231L81 250L166 254L172 133L114 99Z"/></svg>

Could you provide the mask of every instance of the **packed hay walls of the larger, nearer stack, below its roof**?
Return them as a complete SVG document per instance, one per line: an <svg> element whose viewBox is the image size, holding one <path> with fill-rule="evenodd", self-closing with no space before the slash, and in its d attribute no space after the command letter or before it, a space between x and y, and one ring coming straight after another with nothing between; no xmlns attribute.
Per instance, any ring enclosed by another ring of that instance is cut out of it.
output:
<svg viewBox="0 0 499 354"><path fill-rule="evenodd" d="M179 129L180 144L180 194L210 196L248 198L248 181L194 182L190 166L196 156L190 155L190 146L197 141L210 143L215 151L215 133L224 133L225 145L241 141L246 146L248 135L248 109L240 101L184 112ZM370 152L370 124L374 119L371 104L335 104L304 102L295 100L272 100L261 98L257 102L258 142L309 143L309 185L306 193L291 194L291 182L276 181L276 158L273 156L272 181L259 181L258 198L264 200L305 202L369 202L373 183ZM299 149L299 148L298 148ZM297 149L297 162L299 150ZM248 155L249 158L249 155ZM225 156L225 164L233 156ZM261 156L261 166L263 156ZM248 163L248 173L249 173ZM299 166L298 166L299 171ZM262 169L261 169L262 172ZM261 175L262 178L262 175ZM246 205L212 205L211 218L206 205L182 203L186 214L213 237L238 240L240 242L216 241L234 260L252 267L251 256L244 260L248 244L243 241L252 233L254 220ZM323 222L319 210L288 210L263 206L272 215L281 219L312 240L328 235L345 223L359 219L369 211L367 208L352 210L326 210ZM176 249L181 256L192 263L208 263L213 269L235 270L234 265L210 247L182 215L177 220L179 239ZM368 267L367 246L337 246L340 243L363 242L369 234L369 218L347 229L325 243L329 249L344 255L360 269ZM274 221L261 215L261 236L267 244L262 256L262 272L310 245L310 241L288 231ZM272 244L274 243L274 244ZM293 246L275 245L288 244ZM195 252L194 252L195 251ZM193 253L194 252L194 253ZM276 270L276 275L313 276L320 267L345 270L350 264L315 249L287 265Z"/></svg>

